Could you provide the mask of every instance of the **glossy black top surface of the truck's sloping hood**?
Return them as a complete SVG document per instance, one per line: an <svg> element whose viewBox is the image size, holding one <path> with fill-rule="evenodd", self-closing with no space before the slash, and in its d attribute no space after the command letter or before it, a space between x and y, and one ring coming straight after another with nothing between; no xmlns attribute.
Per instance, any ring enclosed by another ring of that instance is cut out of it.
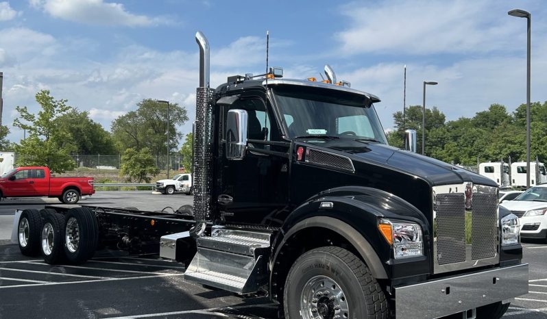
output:
<svg viewBox="0 0 547 319"><path fill-rule="evenodd" d="M470 181L480 185L498 187L495 181L470 170L431 157L402 151L386 144L359 141L344 142L342 144L342 141L332 141L325 143L324 146L328 149L349 154L354 162L377 164L407 175L420 177L430 183L431 186Z"/></svg>

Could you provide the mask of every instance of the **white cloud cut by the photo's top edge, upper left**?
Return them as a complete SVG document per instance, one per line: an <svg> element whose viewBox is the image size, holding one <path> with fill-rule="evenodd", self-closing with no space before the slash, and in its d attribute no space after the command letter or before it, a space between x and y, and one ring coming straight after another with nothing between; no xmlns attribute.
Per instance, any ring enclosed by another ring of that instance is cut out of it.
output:
<svg viewBox="0 0 547 319"><path fill-rule="evenodd" d="M146 27L162 21L160 18L132 14L121 3L103 0L30 0L30 5L56 18L90 25Z"/></svg>

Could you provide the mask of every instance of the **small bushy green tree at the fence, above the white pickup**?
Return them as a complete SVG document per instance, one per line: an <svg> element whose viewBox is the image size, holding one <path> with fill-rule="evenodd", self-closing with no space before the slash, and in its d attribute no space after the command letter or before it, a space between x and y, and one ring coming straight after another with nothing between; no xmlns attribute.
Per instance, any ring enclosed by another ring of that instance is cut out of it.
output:
<svg viewBox="0 0 547 319"><path fill-rule="evenodd" d="M156 167L154 157L146 147L138 152L135 149L127 149L121 156L119 175L125 177L126 181L150 183L151 177L158 175L158 173L160 170Z"/></svg>

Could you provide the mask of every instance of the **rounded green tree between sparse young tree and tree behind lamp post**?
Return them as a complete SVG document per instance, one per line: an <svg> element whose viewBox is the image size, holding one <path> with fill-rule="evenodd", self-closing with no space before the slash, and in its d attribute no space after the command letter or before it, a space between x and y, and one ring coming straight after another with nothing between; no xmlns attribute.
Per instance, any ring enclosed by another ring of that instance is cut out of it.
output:
<svg viewBox="0 0 547 319"><path fill-rule="evenodd" d="M71 109L54 120L58 129L70 135L68 144L77 154L116 154L110 133L89 118L89 112Z"/></svg>

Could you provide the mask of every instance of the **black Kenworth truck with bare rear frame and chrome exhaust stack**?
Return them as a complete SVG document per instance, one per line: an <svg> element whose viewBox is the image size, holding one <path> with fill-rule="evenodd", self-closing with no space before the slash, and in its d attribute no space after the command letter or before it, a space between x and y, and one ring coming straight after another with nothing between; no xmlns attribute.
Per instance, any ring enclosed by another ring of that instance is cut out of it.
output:
<svg viewBox="0 0 547 319"><path fill-rule="evenodd" d="M324 81L271 68L212 89L196 40L193 209L26 209L23 253L159 251L186 280L267 295L291 319L499 318L528 292L518 217L494 181L389 146L378 97L329 66Z"/></svg>

